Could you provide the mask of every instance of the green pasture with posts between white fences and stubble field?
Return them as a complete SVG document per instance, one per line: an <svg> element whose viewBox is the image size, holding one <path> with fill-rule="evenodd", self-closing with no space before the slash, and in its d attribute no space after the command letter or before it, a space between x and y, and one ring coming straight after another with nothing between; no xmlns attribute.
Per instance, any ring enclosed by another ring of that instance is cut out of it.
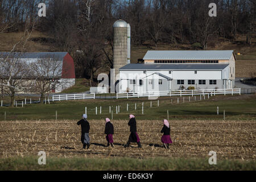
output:
<svg viewBox="0 0 256 182"><path fill-rule="evenodd" d="M127 119L127 115L133 113L138 119L163 119L167 118L167 110L169 110L170 119L222 119L225 109L226 119L255 119L256 100L255 96L251 96L244 100L239 100L242 96L230 96L230 99L221 100L224 97L210 97L210 100L202 100L197 102L187 102L180 104L171 104L171 98L160 98L159 107L157 100L147 98L118 99L118 100L79 100L79 101L57 101L51 104L32 104L25 107L1 107L0 121L4 119L4 113L7 113L7 120L24 120L24 119L55 119L55 111L57 110L58 119L80 119L85 113L87 107L88 119L105 119L111 118L109 114L109 106L113 106L114 119ZM228 97L228 96L226 96ZM197 97L199 99L199 97ZM186 98L188 100L188 98ZM142 114L142 101L144 102L144 114ZM192 101L192 99L191 99ZM182 102L180 98L180 102ZM126 104L129 104L129 111L126 111ZM135 110L137 103L137 110ZM115 114L115 106L121 105L120 113ZM95 107L97 106L98 115L96 115ZM100 114L100 106L102 106L102 114ZM216 114L217 106L219 107L219 115Z"/></svg>

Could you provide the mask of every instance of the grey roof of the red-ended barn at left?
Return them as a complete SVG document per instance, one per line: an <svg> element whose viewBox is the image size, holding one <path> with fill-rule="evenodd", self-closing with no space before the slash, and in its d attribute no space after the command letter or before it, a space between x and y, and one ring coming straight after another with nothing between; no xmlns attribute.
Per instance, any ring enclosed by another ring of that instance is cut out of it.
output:
<svg viewBox="0 0 256 182"><path fill-rule="evenodd" d="M10 52L0 52L0 58L5 58L9 55ZM60 59L63 60L65 55L67 55L68 52L12 52L10 54L10 58L31 58L31 59L38 59L38 58L54 58L54 59Z"/></svg>

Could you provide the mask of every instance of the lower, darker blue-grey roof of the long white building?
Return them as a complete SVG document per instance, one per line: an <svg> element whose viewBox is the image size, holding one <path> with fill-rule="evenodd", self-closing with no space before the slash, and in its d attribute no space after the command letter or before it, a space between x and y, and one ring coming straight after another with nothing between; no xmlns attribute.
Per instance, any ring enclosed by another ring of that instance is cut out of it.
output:
<svg viewBox="0 0 256 182"><path fill-rule="evenodd" d="M119 70L222 70L228 67L229 64L126 64L124 67L119 68Z"/></svg>

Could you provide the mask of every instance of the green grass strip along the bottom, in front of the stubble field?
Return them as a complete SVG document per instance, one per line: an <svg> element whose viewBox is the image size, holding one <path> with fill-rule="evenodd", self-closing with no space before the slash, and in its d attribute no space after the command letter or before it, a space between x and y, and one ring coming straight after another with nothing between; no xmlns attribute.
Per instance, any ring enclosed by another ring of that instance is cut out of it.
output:
<svg viewBox="0 0 256 182"><path fill-rule="evenodd" d="M46 165L38 164L38 157L0 159L0 170L90 170L90 171L132 171L132 170L255 170L255 160L217 160L210 165L208 159L183 158L46 158Z"/></svg>

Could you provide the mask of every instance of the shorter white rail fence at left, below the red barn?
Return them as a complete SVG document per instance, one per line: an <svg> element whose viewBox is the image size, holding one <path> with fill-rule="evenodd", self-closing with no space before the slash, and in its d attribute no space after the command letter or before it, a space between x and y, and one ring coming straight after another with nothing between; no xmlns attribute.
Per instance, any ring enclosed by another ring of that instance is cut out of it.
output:
<svg viewBox="0 0 256 182"><path fill-rule="evenodd" d="M95 99L95 93L63 94L63 95L52 96L52 101L67 101L67 100L82 100L82 99Z"/></svg>

